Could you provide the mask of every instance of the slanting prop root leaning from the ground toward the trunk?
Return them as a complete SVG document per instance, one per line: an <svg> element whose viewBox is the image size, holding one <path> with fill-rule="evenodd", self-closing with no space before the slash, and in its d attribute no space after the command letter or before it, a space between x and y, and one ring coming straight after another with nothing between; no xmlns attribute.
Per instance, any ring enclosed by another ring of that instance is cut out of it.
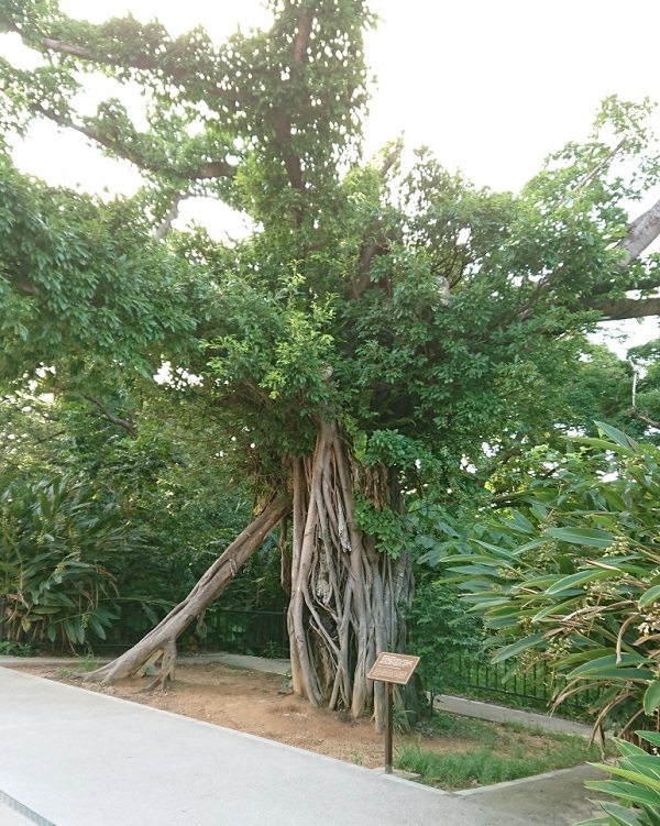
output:
<svg viewBox="0 0 660 826"><path fill-rule="evenodd" d="M204 574L188 596L173 608L158 625L117 660L87 674L87 680L109 683L139 672L148 673L160 662L160 673L151 684L163 685L174 674L176 640L235 576L268 533L283 519L288 504L270 504L227 548ZM150 686L151 687L151 686Z"/></svg>

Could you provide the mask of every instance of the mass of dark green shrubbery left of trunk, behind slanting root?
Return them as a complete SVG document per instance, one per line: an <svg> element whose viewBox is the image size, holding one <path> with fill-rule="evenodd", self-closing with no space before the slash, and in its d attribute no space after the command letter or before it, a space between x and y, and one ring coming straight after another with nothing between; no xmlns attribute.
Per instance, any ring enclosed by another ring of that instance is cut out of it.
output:
<svg viewBox="0 0 660 826"><path fill-rule="evenodd" d="M138 401L107 395L102 409L125 422ZM98 405L70 394L18 393L0 411L0 601L13 640L134 640L185 597L244 522L244 493L220 460L209 461L186 415L165 420L141 404L133 436L103 418ZM76 591L89 595L89 605ZM234 580L226 605L280 608L284 598L270 547ZM54 608L46 612L51 603L61 605L58 617ZM84 618L87 608L91 619Z"/></svg>

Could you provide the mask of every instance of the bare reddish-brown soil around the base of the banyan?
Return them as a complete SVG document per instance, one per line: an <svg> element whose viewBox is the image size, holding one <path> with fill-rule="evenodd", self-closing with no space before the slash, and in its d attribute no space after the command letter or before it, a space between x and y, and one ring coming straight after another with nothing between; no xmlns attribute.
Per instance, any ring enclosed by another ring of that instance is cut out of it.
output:
<svg viewBox="0 0 660 826"><path fill-rule="evenodd" d="M369 717L354 720L342 712L315 709L294 696L286 678L276 674L222 663L182 664L166 691L145 692L146 680L121 680L111 686L99 686L81 682L69 668L40 664L15 668L367 768L378 768L384 762L383 736L374 733ZM496 747L498 752L515 748L518 752L524 749L529 755L538 755L553 748L550 737L521 730L505 731L495 724L493 729L502 735ZM436 752L458 753L473 748L476 740L464 731L455 737L422 725L410 734L395 735L395 749L406 744L419 744Z"/></svg>

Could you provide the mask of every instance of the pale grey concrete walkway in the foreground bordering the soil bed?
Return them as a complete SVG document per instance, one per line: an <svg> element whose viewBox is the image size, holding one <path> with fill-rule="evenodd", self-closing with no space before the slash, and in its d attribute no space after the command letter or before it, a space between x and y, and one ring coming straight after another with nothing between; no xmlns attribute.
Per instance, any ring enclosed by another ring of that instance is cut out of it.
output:
<svg viewBox="0 0 660 826"><path fill-rule="evenodd" d="M459 794L0 668L0 826L569 826L581 768Z"/></svg>

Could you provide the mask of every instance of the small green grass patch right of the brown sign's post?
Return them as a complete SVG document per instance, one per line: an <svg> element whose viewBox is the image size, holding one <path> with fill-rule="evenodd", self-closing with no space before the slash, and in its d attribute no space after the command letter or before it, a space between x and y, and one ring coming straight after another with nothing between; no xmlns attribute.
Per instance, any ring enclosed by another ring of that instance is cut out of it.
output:
<svg viewBox="0 0 660 826"><path fill-rule="evenodd" d="M569 769L588 760L600 760L595 746L587 748L583 737L550 734L519 724L499 725L438 713L425 726L431 739L408 744L397 750L397 769L421 775L421 782L455 790L503 783L557 769ZM442 752L432 739L442 736L471 741L464 750Z"/></svg>

